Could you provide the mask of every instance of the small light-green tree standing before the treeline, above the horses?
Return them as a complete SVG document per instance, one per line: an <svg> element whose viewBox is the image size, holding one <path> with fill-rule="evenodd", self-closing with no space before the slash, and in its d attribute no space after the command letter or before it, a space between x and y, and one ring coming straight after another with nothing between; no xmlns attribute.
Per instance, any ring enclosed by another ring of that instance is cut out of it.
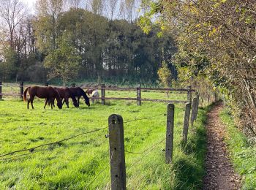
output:
<svg viewBox="0 0 256 190"><path fill-rule="evenodd" d="M78 50L72 47L66 33L58 38L57 45L58 48L46 56L45 67L49 69L50 79L61 77L63 86L66 86L69 79L78 75L80 56Z"/></svg>

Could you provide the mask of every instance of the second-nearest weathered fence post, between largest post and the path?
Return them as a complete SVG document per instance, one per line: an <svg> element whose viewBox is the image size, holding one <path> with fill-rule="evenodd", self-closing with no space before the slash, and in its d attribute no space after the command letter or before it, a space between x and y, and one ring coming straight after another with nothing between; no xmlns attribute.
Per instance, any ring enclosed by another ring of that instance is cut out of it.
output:
<svg viewBox="0 0 256 190"><path fill-rule="evenodd" d="M173 128L174 128L174 104L167 104L165 162L173 161Z"/></svg>

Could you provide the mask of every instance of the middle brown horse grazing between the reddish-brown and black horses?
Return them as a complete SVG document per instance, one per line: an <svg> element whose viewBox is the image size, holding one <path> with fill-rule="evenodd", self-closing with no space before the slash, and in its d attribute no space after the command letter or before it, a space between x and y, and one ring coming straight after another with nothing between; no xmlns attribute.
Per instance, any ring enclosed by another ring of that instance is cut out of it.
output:
<svg viewBox="0 0 256 190"><path fill-rule="evenodd" d="M79 107L77 99L75 99L75 96L72 94L72 91L70 91L69 88L54 87L54 89L59 92L59 96L61 97L61 99L64 99L62 104L64 104L65 102L67 104L67 107L69 108L69 98L71 98L74 106ZM51 103L54 105L54 99Z"/></svg>

